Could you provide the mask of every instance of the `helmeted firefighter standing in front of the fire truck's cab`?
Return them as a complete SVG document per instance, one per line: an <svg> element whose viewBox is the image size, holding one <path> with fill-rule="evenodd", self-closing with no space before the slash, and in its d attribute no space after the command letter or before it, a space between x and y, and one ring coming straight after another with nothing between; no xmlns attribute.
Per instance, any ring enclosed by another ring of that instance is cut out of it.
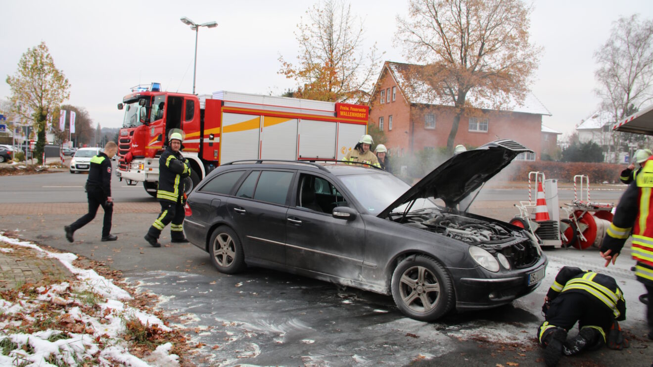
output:
<svg viewBox="0 0 653 367"><path fill-rule="evenodd" d="M159 186L157 187L157 200L161 204L161 213L150 226L145 240L152 247L161 247L159 235L170 223L170 242L185 243L188 240L183 236L183 179L191 175L191 167L180 152L183 137L179 129L170 131L168 146L159 157Z"/></svg>

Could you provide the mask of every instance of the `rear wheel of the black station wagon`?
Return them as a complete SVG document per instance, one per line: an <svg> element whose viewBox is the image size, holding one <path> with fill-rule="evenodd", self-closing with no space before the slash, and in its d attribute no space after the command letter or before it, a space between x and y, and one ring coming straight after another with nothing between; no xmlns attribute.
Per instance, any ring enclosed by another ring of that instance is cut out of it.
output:
<svg viewBox="0 0 653 367"><path fill-rule="evenodd" d="M245 268L243 247L231 228L217 227L211 235L209 253L215 268L221 273L235 274Z"/></svg>

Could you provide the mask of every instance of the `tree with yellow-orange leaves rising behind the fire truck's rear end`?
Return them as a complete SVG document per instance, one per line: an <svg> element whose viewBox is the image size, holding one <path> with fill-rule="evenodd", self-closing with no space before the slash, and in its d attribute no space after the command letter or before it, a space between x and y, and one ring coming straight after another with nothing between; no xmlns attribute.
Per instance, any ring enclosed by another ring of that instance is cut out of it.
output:
<svg viewBox="0 0 653 367"><path fill-rule="evenodd" d="M279 57L281 70L300 86L294 97L340 102L365 95L380 69L376 45L364 50L362 21L344 1L326 0L306 11L298 24L298 65ZM304 19L302 18L302 21Z"/></svg>

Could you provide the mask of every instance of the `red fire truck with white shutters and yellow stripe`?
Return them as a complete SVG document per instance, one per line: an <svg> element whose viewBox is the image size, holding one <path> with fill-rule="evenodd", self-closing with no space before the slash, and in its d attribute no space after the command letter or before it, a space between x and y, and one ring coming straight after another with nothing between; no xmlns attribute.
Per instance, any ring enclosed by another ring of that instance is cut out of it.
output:
<svg viewBox="0 0 653 367"><path fill-rule="evenodd" d="M182 129L183 155L193 174L189 192L210 170L240 159L342 159L367 131L368 106L217 91L192 95L136 86L118 141L120 180L156 196L159 155L168 131Z"/></svg>

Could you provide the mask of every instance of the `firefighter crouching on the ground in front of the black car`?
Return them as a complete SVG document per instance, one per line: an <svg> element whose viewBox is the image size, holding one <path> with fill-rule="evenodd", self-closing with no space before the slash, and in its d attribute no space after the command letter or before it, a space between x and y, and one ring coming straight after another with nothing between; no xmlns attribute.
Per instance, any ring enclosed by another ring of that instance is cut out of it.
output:
<svg viewBox="0 0 653 367"><path fill-rule="evenodd" d="M564 266L547 292L542 311L545 322L537 330L537 340L545 347L547 366L556 366L563 354L575 355L607 343L611 329L620 330L616 321L626 319L626 300L611 276ZM567 340L567 332L577 322L579 333ZM627 346L623 338L614 339L609 347Z"/></svg>

